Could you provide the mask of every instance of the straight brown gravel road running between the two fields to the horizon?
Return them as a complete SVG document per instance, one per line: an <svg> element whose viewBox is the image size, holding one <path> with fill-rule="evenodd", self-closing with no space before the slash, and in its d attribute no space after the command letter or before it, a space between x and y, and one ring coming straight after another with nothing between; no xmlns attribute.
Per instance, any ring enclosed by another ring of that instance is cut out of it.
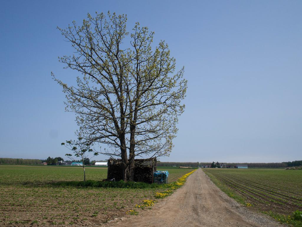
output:
<svg viewBox="0 0 302 227"><path fill-rule="evenodd" d="M111 221L106 226L282 226L229 198L198 169L185 185L137 216Z"/></svg>

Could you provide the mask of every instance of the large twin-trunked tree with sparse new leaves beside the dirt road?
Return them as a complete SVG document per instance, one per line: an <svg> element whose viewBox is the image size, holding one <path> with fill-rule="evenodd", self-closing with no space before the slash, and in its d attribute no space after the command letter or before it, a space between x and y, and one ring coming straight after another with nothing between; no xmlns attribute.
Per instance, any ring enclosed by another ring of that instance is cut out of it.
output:
<svg viewBox="0 0 302 227"><path fill-rule="evenodd" d="M80 72L76 86L53 78L66 93L66 110L76 113L79 140L72 145L107 144L101 151L120 157L125 181L133 180L135 156L168 156L183 113L187 81L175 73L175 59L154 32L136 23L126 30L126 15L96 14L58 28L75 52L59 61Z"/></svg>

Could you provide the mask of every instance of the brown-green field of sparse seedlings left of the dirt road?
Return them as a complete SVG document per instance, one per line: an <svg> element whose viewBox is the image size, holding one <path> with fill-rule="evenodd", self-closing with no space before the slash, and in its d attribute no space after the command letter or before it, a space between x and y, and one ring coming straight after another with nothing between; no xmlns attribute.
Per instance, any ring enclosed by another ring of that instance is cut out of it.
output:
<svg viewBox="0 0 302 227"><path fill-rule="evenodd" d="M85 169L88 180L107 177L107 168ZM191 171L169 169L169 182ZM56 185L81 181L83 172L79 167L0 165L0 173L0 226L101 224L166 190Z"/></svg>

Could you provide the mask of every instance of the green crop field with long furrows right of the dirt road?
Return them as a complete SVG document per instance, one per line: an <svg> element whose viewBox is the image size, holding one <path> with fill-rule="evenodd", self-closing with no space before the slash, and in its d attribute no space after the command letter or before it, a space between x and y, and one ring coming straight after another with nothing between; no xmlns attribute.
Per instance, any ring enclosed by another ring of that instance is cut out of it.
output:
<svg viewBox="0 0 302 227"><path fill-rule="evenodd" d="M267 212L281 222L291 223L293 212L302 210L301 170L203 170L230 197L246 206Z"/></svg>

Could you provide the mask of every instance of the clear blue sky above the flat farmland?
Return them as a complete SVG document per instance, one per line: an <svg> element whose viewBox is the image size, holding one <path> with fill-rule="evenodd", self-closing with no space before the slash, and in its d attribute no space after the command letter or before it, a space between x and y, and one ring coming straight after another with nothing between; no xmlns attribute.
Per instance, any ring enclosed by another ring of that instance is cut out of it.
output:
<svg viewBox="0 0 302 227"><path fill-rule="evenodd" d="M75 116L50 72L75 78L56 26L108 10L155 31L185 66L186 110L162 161L302 160L302 1L275 0L2 1L0 157L67 153Z"/></svg>

